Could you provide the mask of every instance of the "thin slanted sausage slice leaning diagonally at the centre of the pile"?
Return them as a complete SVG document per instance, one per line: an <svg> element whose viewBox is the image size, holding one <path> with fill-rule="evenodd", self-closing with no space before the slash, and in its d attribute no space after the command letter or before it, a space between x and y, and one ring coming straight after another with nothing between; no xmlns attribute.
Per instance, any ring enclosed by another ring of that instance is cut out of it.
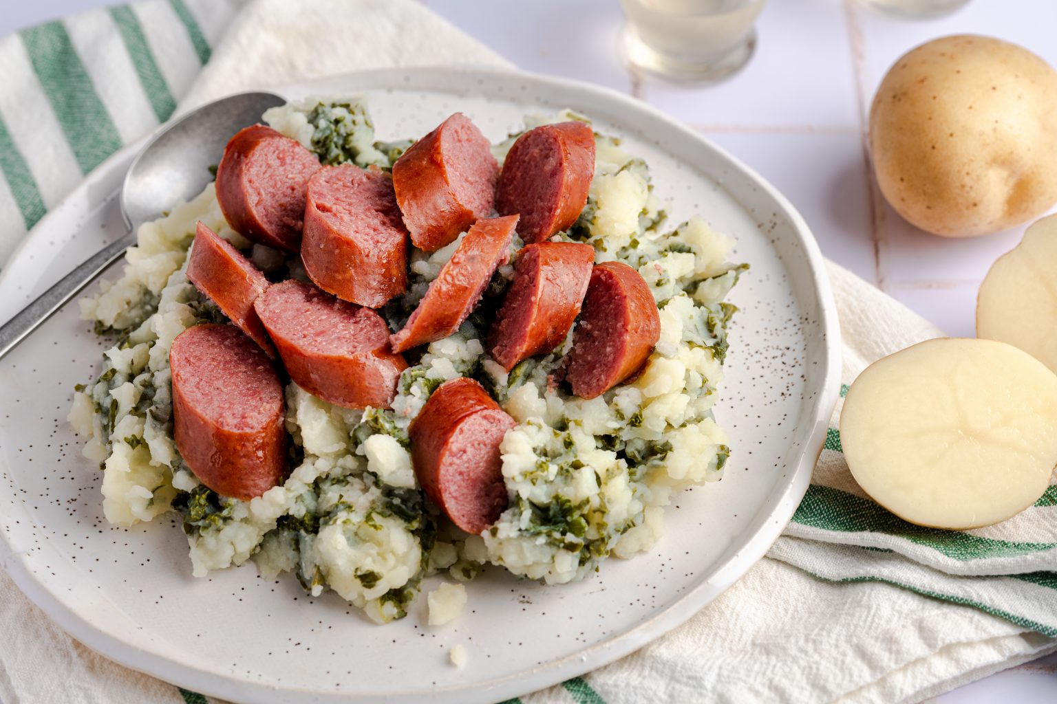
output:
<svg viewBox="0 0 1057 704"><path fill-rule="evenodd" d="M446 338L459 329L481 300L492 274L506 264L517 222L517 215L509 215L474 223L407 324L392 336L393 351Z"/></svg>

